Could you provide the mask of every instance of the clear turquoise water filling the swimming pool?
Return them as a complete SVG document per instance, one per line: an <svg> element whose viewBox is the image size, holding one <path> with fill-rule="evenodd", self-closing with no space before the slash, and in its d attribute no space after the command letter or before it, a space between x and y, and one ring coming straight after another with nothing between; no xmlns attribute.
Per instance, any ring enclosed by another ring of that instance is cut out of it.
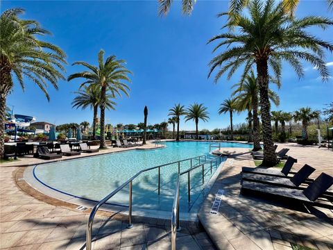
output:
<svg viewBox="0 0 333 250"><path fill-rule="evenodd" d="M37 165L34 169L38 181L49 187L76 197L99 201L142 169L186 158L210 155L211 142L164 142L167 147L152 150L131 150L92 156L59 163ZM221 142L221 147L250 148L250 144ZM203 163L203 158L201 162ZM197 165L193 160L192 165ZM180 163L180 172L190 167L189 161ZM214 174L218 164L212 165ZM158 169L142 173L133 181L133 208L171 211L175 192L178 164L161 167L160 195L157 194ZM205 185L211 177L210 165L205 165L205 183L202 168L191 171L191 203L187 202L187 174L180 179L180 211L197 210L205 196ZM128 205L128 186L112 197L108 203Z"/></svg>

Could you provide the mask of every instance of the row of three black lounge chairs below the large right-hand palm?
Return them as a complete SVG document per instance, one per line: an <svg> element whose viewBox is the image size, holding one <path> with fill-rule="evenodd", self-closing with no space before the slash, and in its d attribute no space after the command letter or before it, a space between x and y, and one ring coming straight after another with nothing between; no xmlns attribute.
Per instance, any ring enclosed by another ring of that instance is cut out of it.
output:
<svg viewBox="0 0 333 250"><path fill-rule="evenodd" d="M327 191L333 185L333 177L321 173L316 179L309 176L316 171L305 164L298 172L291 172L297 160L289 156L281 171L277 169L243 167L241 172L241 193L261 194L268 198L333 208L333 192Z"/></svg>

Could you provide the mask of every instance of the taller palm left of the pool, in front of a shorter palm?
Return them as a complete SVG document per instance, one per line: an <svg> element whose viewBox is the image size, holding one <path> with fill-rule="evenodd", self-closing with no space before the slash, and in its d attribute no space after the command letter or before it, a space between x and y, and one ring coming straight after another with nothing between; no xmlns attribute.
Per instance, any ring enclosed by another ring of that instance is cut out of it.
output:
<svg viewBox="0 0 333 250"><path fill-rule="evenodd" d="M89 71L78 72L71 74L68 77L68 81L71 81L74 78L85 78L85 82L81 84L89 84L89 88L99 88L101 89L101 99L99 103L99 108L101 110L101 142L100 149L105 149L105 108L106 108L106 99L107 93L110 92L115 98L115 95L118 94L121 97L121 92L126 94L129 97L128 91L130 88L128 85L123 83L127 81L130 83L130 78L128 74L132 74L124 66L125 60L117 60L116 56L109 56L104 61L104 51L101 49L98 55L99 66L89 65L85 62L76 62L73 65L83 65L89 69Z"/></svg>

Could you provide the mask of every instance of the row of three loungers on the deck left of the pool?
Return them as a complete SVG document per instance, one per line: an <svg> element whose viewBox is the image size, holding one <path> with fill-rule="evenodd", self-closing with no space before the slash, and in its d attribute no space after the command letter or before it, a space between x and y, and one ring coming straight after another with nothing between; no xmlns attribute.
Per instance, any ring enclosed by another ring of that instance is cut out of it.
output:
<svg viewBox="0 0 333 250"><path fill-rule="evenodd" d="M53 160L62 158L63 156L78 156L81 152L83 153L95 153L98 152L99 149L89 149L87 146L87 143L80 143L80 150L79 151L71 151L71 148L69 147L69 144L60 144L60 151L58 151L58 154L51 153L49 151L49 148L45 146L37 147L37 152L35 153L35 158L41 158L44 160Z"/></svg>

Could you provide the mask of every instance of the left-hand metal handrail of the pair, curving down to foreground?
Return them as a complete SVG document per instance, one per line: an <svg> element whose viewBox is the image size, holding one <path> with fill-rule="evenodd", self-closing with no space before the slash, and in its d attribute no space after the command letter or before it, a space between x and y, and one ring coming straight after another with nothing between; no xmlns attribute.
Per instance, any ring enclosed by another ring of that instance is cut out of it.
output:
<svg viewBox="0 0 333 250"><path fill-rule="evenodd" d="M113 192L111 192L110 194L108 194L106 197L104 197L103 199L101 199L101 201L99 201L99 203L96 204L96 206L94 206L94 208L92 208L92 212L89 215L89 219L87 222L87 235L86 235L86 241L85 241L85 245L86 245L86 249L87 250L92 250L92 224L94 222L94 217L97 213L97 210L99 210L99 208L106 203L106 201L108 201L109 199L111 199L114 194L117 194L117 192L119 192L120 190L122 190L123 188L126 187L126 185L129 184L129 195L128 195L128 226L127 228L132 228L133 224L132 224L132 187L133 187L133 180L135 178L137 178L137 176L139 176L140 174L142 174L143 172L147 172L149 170L152 169L157 169L158 168L158 195L160 195L160 168L161 167L165 167L168 165L173 165L173 164L178 164L178 174L180 173L180 163L185 162L187 160L190 161L191 167L192 167L192 160L198 158L199 160L199 164L200 164L200 158L203 157L205 158L206 161L206 155L201 155L201 156L196 156L196 157L192 157L192 158L187 158L187 159L183 159L183 160L177 160L176 162L173 163L165 163L162 165L158 165L155 167L148 167L146 169L142 169L139 172L137 172L137 174L135 174L134 176L132 176L131 178L129 178L127 181L125 181L123 184L121 184L116 190L114 190Z"/></svg>

